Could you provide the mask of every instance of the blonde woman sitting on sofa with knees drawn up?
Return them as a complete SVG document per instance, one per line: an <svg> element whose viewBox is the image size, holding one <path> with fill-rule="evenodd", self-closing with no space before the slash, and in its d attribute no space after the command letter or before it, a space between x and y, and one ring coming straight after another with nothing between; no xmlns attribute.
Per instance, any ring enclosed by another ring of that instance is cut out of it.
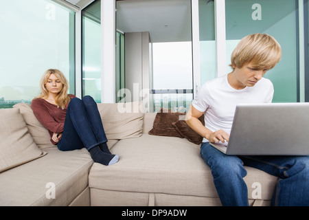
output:
<svg viewBox="0 0 309 220"><path fill-rule="evenodd" d="M34 115L49 131L60 151L87 148L94 162L111 165L119 156L108 150L107 138L91 96L82 100L72 94L67 79L58 69L48 69L41 78L41 95L32 100Z"/></svg>

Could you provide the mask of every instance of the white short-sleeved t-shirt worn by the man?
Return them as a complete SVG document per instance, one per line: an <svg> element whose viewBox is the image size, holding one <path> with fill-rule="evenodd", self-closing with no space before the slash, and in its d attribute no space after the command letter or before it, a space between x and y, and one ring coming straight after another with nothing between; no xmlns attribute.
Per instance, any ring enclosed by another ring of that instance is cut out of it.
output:
<svg viewBox="0 0 309 220"><path fill-rule="evenodd" d="M209 80L198 91L192 105L204 112L205 127L211 131L222 129L231 133L236 105L239 103L267 103L273 100L273 83L262 78L253 87L233 89L227 75ZM254 117L254 115L252 115ZM203 142L209 142L206 138Z"/></svg>

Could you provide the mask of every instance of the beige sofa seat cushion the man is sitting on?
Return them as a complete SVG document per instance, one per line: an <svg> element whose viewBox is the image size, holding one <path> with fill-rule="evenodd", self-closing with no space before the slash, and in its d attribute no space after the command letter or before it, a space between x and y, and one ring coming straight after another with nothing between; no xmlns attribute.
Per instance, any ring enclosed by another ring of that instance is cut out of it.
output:
<svg viewBox="0 0 309 220"><path fill-rule="evenodd" d="M200 151L200 146L178 137L144 134L120 140L112 149L112 153L120 156L119 161L111 166L93 164L89 187L91 190L218 198L211 170ZM255 190L251 186L258 182L262 186L261 199L270 200L277 178L255 168L245 168L249 199Z"/></svg>

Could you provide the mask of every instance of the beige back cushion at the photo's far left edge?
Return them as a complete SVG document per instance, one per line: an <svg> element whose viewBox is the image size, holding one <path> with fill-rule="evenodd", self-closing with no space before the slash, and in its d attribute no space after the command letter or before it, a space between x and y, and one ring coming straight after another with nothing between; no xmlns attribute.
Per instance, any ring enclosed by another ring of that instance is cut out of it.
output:
<svg viewBox="0 0 309 220"><path fill-rule="evenodd" d="M19 109L0 109L0 172L42 157Z"/></svg>

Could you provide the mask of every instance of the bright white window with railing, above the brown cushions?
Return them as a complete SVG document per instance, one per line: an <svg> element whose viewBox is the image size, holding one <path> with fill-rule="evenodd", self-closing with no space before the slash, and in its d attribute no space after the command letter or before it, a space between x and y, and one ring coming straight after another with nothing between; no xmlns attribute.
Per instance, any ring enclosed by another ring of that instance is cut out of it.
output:
<svg viewBox="0 0 309 220"><path fill-rule="evenodd" d="M192 42L152 43L152 73L155 111L187 111L193 99Z"/></svg>

